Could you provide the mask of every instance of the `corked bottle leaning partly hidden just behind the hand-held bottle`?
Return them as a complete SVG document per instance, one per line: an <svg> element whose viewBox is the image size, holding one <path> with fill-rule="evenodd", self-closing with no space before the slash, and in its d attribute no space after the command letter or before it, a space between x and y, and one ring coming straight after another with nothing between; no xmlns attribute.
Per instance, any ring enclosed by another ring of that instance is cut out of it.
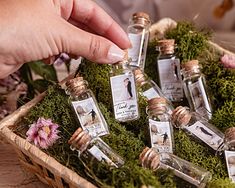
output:
<svg viewBox="0 0 235 188"><path fill-rule="evenodd" d="M136 86L137 86L137 89L139 89L140 95L146 97L147 100L150 100L156 97L165 98L168 104L167 105L168 113L171 114L174 107L171 101L169 101L166 98L166 96L164 96L164 94L162 93L162 90L158 87L158 85L153 80L150 80L150 78L145 73L143 73L143 71L140 69L135 69L134 75L135 75Z"/></svg>

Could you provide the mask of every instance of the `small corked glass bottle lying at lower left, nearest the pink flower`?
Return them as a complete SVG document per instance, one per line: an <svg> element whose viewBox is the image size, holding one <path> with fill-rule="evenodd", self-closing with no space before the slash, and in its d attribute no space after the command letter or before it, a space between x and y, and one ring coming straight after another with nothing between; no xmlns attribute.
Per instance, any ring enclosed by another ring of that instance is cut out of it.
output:
<svg viewBox="0 0 235 188"><path fill-rule="evenodd" d="M91 137L87 131L78 128L69 139L71 150L78 151L78 157L83 161L96 159L111 167L119 168L124 160L114 152L100 137Z"/></svg>

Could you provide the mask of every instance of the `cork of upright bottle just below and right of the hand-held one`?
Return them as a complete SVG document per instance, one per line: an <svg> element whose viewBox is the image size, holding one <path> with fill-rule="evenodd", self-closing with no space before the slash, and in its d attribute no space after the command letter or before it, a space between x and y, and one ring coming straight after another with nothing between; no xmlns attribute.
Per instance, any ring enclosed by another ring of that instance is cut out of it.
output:
<svg viewBox="0 0 235 188"><path fill-rule="evenodd" d="M155 97L148 100L148 112L150 115L161 115L167 111L167 101L163 97Z"/></svg>

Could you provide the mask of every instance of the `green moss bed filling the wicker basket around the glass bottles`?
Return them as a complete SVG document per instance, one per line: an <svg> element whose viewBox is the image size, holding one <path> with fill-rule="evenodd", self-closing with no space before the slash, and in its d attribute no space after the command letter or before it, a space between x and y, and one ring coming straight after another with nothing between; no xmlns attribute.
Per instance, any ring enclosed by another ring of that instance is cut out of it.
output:
<svg viewBox="0 0 235 188"><path fill-rule="evenodd" d="M176 29L167 33L168 38L174 38L178 44L178 53L183 61L199 58L202 70L206 75L209 89L212 93L215 111L212 123L224 131L234 126L235 120L235 77L234 72L226 70L218 63L220 54L207 46L207 33L198 32L188 23L179 23ZM182 41L181 41L182 40ZM184 42L185 41L185 42ZM150 43L146 60L146 73L155 81L157 73L155 61L157 52L156 42ZM45 152L56 158L63 165L76 171L82 177L100 187L194 187L189 183L173 176L171 171L157 170L152 172L143 169L138 156L144 146L148 145L147 115L145 113L146 101L140 97L140 119L128 123L118 123L112 114L112 99L109 85L109 65L97 65L84 60L80 66L79 74L89 82L89 87L95 93L100 109L109 125L110 135L102 139L125 159L125 165L119 169L110 169L108 166L95 161L79 160L76 152L72 152L67 144L73 132L80 126L71 116L72 111L68 105L68 97L58 86L50 87L44 100L36 105L21 121L25 137L27 126L38 117L51 118L60 125L60 141ZM213 179L209 188L235 187L228 180L226 165L222 156L215 156L203 144L194 141L184 131L174 130L175 154L185 160L199 165L211 172Z"/></svg>

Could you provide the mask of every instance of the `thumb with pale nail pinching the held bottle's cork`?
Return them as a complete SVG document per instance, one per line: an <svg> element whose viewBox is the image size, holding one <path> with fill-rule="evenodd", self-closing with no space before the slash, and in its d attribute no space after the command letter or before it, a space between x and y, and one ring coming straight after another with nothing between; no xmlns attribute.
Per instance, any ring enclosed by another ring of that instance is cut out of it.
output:
<svg viewBox="0 0 235 188"><path fill-rule="evenodd" d="M63 52L83 56L97 63L116 63L124 58L125 52L110 40L71 24L64 25L66 27L60 33Z"/></svg>

